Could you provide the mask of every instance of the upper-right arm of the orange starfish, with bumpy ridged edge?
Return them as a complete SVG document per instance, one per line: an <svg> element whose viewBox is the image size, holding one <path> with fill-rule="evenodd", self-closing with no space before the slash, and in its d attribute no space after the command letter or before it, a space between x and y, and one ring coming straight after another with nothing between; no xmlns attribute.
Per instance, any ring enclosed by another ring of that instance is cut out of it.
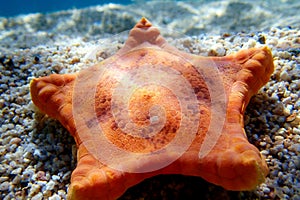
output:
<svg viewBox="0 0 300 200"><path fill-rule="evenodd" d="M192 60L199 72L204 72L202 75L206 81L221 77L228 101L227 121L232 123L243 124L245 108L251 97L269 81L274 71L273 57L268 47L242 50L225 57L185 57Z"/></svg>

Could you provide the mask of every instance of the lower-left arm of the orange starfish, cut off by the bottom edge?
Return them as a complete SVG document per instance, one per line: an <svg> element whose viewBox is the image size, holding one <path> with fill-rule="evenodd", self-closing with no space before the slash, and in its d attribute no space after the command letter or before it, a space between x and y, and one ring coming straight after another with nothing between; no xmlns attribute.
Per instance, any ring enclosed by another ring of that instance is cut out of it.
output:
<svg viewBox="0 0 300 200"><path fill-rule="evenodd" d="M69 200L117 199L129 187L157 174L114 170L95 159L84 145L79 145L77 157L78 165L72 173L68 190Z"/></svg>

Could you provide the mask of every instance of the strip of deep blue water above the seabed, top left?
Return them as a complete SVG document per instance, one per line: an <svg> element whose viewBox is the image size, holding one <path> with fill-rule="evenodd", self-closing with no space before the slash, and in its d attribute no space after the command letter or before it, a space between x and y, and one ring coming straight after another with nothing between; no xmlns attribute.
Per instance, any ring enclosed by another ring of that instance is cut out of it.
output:
<svg viewBox="0 0 300 200"><path fill-rule="evenodd" d="M28 13L46 13L83 8L106 3L129 4L131 0L0 0L0 16L10 17Z"/></svg>

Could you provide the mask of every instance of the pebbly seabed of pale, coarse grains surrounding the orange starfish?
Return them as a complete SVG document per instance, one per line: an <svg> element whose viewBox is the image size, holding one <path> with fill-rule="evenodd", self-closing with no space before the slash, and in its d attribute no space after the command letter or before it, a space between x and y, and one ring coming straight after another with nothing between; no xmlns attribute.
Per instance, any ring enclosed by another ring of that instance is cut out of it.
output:
<svg viewBox="0 0 300 200"><path fill-rule="evenodd" d="M189 53L271 48L275 71L245 114L248 138L270 173L251 192L226 191L197 177L157 176L120 199L300 199L299 9L297 1L279 0L148 2L0 18L0 199L66 198L75 143L33 106L29 82L78 72L113 55L126 39L123 31L142 16Z"/></svg>

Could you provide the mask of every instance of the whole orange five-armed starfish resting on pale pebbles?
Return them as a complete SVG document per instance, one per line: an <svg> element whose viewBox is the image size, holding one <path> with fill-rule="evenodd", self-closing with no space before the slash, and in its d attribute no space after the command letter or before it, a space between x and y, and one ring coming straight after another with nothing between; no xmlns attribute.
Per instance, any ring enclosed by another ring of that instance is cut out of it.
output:
<svg viewBox="0 0 300 200"><path fill-rule="evenodd" d="M242 191L268 174L243 115L273 70L267 47L193 55L142 18L114 56L79 73L35 78L30 90L75 139L68 199L116 199L158 174Z"/></svg>

